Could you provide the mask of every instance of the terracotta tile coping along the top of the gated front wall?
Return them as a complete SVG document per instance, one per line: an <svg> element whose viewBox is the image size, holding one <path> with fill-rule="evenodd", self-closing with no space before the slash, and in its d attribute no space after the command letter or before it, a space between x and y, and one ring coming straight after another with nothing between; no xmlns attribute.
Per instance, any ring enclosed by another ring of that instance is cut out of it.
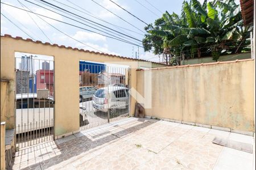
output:
<svg viewBox="0 0 256 170"><path fill-rule="evenodd" d="M136 59L136 58L130 58L130 57L117 56L117 55L114 55L114 54L94 52L94 51L90 51L90 50L72 48L71 46L68 46L68 47L67 47L67 46L65 46L65 45L51 44L51 43L49 43L49 42L44 42L44 43L43 43L42 41L39 41L39 40L33 41L32 39L23 39L22 37L19 37L19 36L13 37L13 36L11 36L11 35L9 35L9 34L5 34L5 35L3 35L3 36L1 35L1 37L9 37L9 38L16 39L16 40L31 41L31 42L34 42L34 43L36 43L36 44L52 45L52 46L57 46L58 48L73 49L73 50L79 50L79 51L82 51L82 52L100 54L100 55L105 55L105 56L110 56L110 57L126 58L126 59L135 60L135 61L151 62L151 63L157 63L157 64L159 64L159 65L167 66L167 65L164 64L164 63L147 61L146 59Z"/></svg>

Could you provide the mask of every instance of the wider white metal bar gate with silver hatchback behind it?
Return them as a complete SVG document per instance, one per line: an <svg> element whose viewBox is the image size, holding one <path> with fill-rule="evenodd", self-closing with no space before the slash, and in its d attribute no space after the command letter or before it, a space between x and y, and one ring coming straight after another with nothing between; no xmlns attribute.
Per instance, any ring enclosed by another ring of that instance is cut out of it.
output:
<svg viewBox="0 0 256 170"><path fill-rule="evenodd" d="M80 130L129 116L129 67L80 61Z"/></svg>

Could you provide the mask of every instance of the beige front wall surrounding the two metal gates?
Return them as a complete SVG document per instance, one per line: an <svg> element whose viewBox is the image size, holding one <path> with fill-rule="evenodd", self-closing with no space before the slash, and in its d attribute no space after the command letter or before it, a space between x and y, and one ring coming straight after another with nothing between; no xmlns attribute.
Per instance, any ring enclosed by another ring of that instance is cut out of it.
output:
<svg viewBox="0 0 256 170"><path fill-rule="evenodd" d="M9 35L1 36L1 79L14 82L14 54L15 52L42 54L53 56L55 62L55 138L79 131L79 59L94 62L106 62L129 65L129 85L136 88L136 70L143 67L161 67L159 63L143 60L118 57L109 54L89 52L63 45L43 44L41 41L23 40ZM14 128L15 83L11 83L7 93L2 94L1 83L1 122L6 121L7 129ZM5 87L6 88L6 87ZM6 96L7 94L8 96ZM7 98L9 104L2 113L2 99ZM131 98L131 114L134 113L135 99ZM76 115L76 116L75 116Z"/></svg>

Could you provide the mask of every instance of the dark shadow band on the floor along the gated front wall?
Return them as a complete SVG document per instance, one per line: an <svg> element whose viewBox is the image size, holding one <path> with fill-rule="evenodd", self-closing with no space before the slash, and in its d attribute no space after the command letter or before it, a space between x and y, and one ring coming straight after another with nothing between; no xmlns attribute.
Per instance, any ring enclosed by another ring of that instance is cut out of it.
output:
<svg viewBox="0 0 256 170"><path fill-rule="evenodd" d="M133 133L142 128L146 128L147 126L152 125L156 122L156 121L146 121L144 119L139 119L138 121L142 122L142 123L131 126L130 128L119 127L118 123L121 122L121 124L122 124L122 121L116 122L115 124L105 125L104 128L101 128L101 126L99 126L98 128L101 129L101 131L100 131L101 133L97 133L96 135L90 135L90 137L92 137L92 138L98 138L98 137L103 136L100 139L96 139L96 141L92 141L90 138L88 138L87 135L85 135L83 133L79 133L79 134L76 134L76 137L74 135L72 135L73 139L71 139L67 142L61 142L59 144L57 144L58 142L55 142L57 145L57 148L59 148L59 151L60 151L59 155L53 156L52 158L49 158L46 160L40 160L39 163L28 165L28 167L23 168L23 169L46 169L46 168L52 167L53 165L59 164L59 163L65 161L65 160L68 160L74 156L80 155L84 152L88 152L88 151L92 150L93 148L104 145L107 142L114 141L115 139L121 138L127 134ZM120 128L122 130L117 131L117 132L114 132L114 131L111 132L111 130L108 130L108 126L109 126L109 128L111 128L111 127L116 128L118 126L118 128ZM97 130L97 128L95 128L95 130ZM66 137L66 138L68 138L68 137ZM36 148L31 150L31 154L33 154L32 152L35 152L35 149ZM22 152L22 151L19 151L19 152ZM28 154L28 153L24 153L24 154ZM40 159L40 157L42 157L44 155L37 155L37 156ZM12 168L13 168L13 164L11 165L11 167L9 169L12 169Z"/></svg>

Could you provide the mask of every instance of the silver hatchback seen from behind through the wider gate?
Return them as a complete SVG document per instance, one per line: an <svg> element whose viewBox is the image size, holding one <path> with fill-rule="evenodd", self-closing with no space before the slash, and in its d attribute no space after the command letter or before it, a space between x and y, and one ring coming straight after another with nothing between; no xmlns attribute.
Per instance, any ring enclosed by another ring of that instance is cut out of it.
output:
<svg viewBox="0 0 256 170"><path fill-rule="evenodd" d="M115 109L125 109L129 105L128 88L126 87L103 87L93 95L93 108L98 111L114 112Z"/></svg>

